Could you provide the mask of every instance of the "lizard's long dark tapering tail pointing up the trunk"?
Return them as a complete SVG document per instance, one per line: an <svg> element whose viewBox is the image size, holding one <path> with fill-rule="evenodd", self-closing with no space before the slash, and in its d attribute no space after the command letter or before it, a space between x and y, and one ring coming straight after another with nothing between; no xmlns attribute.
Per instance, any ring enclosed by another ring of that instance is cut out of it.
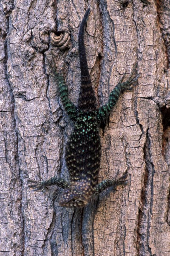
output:
<svg viewBox="0 0 170 256"><path fill-rule="evenodd" d="M84 44L84 30L89 13L90 8L87 9L79 29L79 61L81 70L81 87L78 99L78 108L82 112L96 110L96 97L94 89L91 85L91 78L88 72L88 64Z"/></svg>

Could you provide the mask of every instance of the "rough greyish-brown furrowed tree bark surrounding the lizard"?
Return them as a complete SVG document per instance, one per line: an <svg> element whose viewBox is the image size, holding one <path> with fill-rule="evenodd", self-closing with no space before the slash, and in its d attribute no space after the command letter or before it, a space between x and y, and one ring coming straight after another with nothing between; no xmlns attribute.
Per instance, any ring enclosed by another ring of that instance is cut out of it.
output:
<svg viewBox="0 0 170 256"><path fill-rule="evenodd" d="M58 206L60 190L33 192L28 179L68 177L70 122L53 76L64 66L77 103L79 24L98 104L137 63L102 138L99 181L127 170L129 184L85 209ZM51 32L68 33L65 49ZM0 256L170 255L170 1L0 1Z"/></svg>

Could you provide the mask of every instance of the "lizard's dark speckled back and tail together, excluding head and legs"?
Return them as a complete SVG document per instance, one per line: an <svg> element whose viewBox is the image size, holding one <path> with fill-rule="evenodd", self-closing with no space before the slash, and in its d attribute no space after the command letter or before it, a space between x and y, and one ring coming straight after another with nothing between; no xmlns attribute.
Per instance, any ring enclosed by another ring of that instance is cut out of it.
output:
<svg viewBox="0 0 170 256"><path fill-rule="evenodd" d="M96 97L88 72L83 40L85 23L89 12L90 9L86 11L79 29L81 87L77 106L77 119L66 146L65 160L71 182L79 182L83 186L83 180L86 180L91 183L92 188L97 182L101 145L96 119Z"/></svg>

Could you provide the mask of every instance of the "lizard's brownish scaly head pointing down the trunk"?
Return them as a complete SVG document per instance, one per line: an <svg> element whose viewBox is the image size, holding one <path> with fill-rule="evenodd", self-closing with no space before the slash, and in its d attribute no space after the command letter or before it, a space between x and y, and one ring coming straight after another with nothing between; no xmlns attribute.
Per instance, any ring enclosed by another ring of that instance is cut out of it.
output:
<svg viewBox="0 0 170 256"><path fill-rule="evenodd" d="M71 183L71 186L64 189L59 205L62 207L85 207L91 198L92 190L87 180L79 180Z"/></svg>

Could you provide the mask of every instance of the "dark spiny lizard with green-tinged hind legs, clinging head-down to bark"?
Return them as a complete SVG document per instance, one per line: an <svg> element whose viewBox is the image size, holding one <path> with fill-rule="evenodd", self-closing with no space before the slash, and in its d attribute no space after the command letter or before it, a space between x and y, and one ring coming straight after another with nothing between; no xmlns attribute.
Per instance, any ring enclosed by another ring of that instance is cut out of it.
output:
<svg viewBox="0 0 170 256"><path fill-rule="evenodd" d="M85 207L92 196L111 186L127 183L127 172L119 179L105 179L97 183L97 177L101 159L101 142L99 136L99 124L111 112L111 109L125 90L132 90L132 84L137 81L134 70L127 81L121 81L110 93L108 103L97 108L94 88L88 71L88 64L84 45L85 24L90 13L87 9L79 28L79 61L81 71L81 86L77 106L68 98L68 88L64 78L55 72L57 77L59 95L68 116L74 123L74 129L66 144L65 162L70 174L70 182L61 177L51 177L42 182L29 180L29 187L35 191L43 190L47 186L57 185L63 189L59 199L62 207Z"/></svg>

